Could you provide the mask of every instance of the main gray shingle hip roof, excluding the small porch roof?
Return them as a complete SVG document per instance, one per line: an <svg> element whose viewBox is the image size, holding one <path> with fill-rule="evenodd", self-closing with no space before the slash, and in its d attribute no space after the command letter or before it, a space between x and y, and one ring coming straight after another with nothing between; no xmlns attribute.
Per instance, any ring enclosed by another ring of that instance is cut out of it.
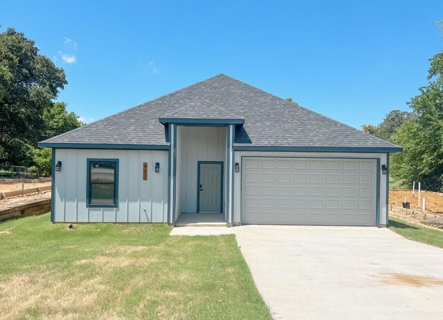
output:
<svg viewBox="0 0 443 320"><path fill-rule="evenodd" d="M168 145L161 117L242 118L235 146L399 148L222 74L43 143Z"/></svg>

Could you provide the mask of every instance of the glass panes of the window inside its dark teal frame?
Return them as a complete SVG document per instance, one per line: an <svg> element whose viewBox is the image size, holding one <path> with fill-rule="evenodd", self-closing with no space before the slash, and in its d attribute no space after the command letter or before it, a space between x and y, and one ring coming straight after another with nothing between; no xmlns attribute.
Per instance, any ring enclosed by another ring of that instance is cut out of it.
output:
<svg viewBox="0 0 443 320"><path fill-rule="evenodd" d="M115 205L116 162L91 162L91 205Z"/></svg>

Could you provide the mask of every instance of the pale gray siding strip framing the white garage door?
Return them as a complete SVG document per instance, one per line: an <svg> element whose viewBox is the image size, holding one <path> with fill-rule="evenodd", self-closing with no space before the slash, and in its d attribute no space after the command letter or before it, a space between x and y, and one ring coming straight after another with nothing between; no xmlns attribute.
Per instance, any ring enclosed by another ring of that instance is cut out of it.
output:
<svg viewBox="0 0 443 320"><path fill-rule="evenodd" d="M235 162L242 165L243 157L273 157L273 158L373 158L380 160L380 166L387 164L386 153L318 153L318 152L262 152L262 151L235 151ZM241 223L242 212L242 167L240 173L234 175L234 223ZM388 187L387 175L380 173L379 181L379 213L380 225L387 225L387 206L386 206L386 191Z"/></svg>

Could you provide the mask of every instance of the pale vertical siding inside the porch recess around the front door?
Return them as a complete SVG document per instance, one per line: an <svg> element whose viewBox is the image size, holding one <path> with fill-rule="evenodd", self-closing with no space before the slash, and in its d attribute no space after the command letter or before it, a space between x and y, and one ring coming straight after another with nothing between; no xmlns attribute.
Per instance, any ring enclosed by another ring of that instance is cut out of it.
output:
<svg viewBox="0 0 443 320"><path fill-rule="evenodd" d="M223 161L226 168L226 127L178 126L177 142L178 216L197 212L198 162Z"/></svg>

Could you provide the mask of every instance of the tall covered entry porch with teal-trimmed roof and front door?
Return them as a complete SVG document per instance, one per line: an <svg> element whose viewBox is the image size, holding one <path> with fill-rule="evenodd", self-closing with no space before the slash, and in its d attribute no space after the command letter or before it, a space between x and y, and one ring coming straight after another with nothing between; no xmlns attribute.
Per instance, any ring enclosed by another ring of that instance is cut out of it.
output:
<svg viewBox="0 0 443 320"><path fill-rule="evenodd" d="M168 223L232 227L233 142L235 126L244 120L215 106L193 105L159 121L170 138Z"/></svg>

